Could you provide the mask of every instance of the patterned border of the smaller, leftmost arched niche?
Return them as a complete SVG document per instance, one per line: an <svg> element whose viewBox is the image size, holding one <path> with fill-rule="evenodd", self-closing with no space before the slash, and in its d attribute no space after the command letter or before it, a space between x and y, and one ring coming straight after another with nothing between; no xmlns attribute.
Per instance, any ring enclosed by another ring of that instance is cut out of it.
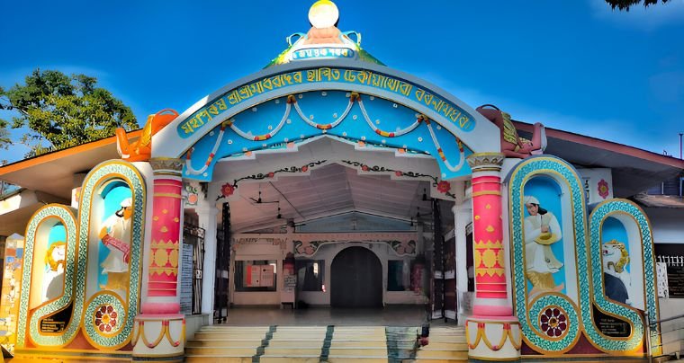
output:
<svg viewBox="0 0 684 363"><path fill-rule="evenodd" d="M41 223L50 219L60 218L67 231L67 259L64 266L64 293L58 299L40 306L31 314L31 322L28 322L29 296L31 295L31 269L33 267L33 246L36 243L36 232ZM70 208L58 204L50 204L40 208L31 217L26 227L26 244L24 246L23 272L22 272L22 297L19 302L19 316L17 325L16 347L25 347L26 324L29 323L31 341L48 347L61 347L74 339L78 331L78 320L71 319L67 328L59 335L43 335L40 333L40 319L49 314L57 313L66 308L73 300L74 275L76 274L76 217Z"/></svg>

